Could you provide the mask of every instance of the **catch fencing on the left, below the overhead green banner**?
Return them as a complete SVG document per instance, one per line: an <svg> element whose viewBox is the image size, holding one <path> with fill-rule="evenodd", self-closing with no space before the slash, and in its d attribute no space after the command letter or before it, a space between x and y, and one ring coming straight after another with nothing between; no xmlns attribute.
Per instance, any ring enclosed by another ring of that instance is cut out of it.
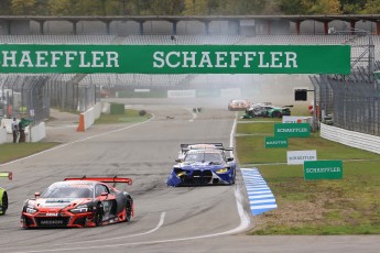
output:
<svg viewBox="0 0 380 253"><path fill-rule="evenodd" d="M79 85L80 75L0 76L0 117L22 117L32 124L50 118L50 108L84 112L100 100L97 86Z"/></svg>

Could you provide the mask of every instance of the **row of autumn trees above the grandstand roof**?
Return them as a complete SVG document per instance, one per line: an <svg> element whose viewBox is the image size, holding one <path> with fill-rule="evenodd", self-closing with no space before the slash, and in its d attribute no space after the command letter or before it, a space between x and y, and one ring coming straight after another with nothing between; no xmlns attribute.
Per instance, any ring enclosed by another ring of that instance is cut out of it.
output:
<svg viewBox="0 0 380 253"><path fill-rule="evenodd" d="M0 15L377 14L380 0L0 0Z"/></svg>

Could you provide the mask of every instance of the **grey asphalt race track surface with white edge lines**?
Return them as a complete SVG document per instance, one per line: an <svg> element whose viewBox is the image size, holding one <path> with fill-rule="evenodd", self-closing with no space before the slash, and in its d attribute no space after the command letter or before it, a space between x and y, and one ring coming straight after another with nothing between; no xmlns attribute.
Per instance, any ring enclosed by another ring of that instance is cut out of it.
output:
<svg viewBox="0 0 380 253"><path fill-rule="evenodd" d="M120 101L120 100L119 100ZM59 146L0 166L13 182L0 217L0 252L380 252L380 237L252 237L241 175L235 186L178 187L165 184L181 143L234 140L236 114L226 103L126 100L153 118L143 123L96 125L76 132L77 119L57 113L47 123L48 141ZM200 113L192 108L202 107ZM54 116L54 114L53 114ZM232 133L232 134L231 134ZM135 205L128 223L88 229L20 228L23 201L67 176L124 174ZM279 207L281 208L281 207Z"/></svg>

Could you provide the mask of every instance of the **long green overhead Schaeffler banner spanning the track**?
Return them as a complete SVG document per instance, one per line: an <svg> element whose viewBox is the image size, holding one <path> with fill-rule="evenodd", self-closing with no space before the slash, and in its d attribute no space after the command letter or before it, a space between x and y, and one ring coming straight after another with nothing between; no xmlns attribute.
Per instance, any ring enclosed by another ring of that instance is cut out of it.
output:
<svg viewBox="0 0 380 253"><path fill-rule="evenodd" d="M0 44L0 73L348 75L350 46Z"/></svg>

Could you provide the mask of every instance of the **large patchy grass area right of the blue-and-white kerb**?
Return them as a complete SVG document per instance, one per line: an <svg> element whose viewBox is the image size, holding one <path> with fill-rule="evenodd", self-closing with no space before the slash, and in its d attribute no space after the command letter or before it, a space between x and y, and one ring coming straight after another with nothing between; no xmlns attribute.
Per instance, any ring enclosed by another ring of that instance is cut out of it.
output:
<svg viewBox="0 0 380 253"><path fill-rule="evenodd" d="M240 165L258 167L278 202L278 209L256 218L251 234L379 234L380 155L324 140L318 133L289 139L287 148L265 150L264 138L273 135L273 124L237 127ZM344 161L344 178L304 180L303 166L286 165L287 150L316 150L318 160Z"/></svg>

